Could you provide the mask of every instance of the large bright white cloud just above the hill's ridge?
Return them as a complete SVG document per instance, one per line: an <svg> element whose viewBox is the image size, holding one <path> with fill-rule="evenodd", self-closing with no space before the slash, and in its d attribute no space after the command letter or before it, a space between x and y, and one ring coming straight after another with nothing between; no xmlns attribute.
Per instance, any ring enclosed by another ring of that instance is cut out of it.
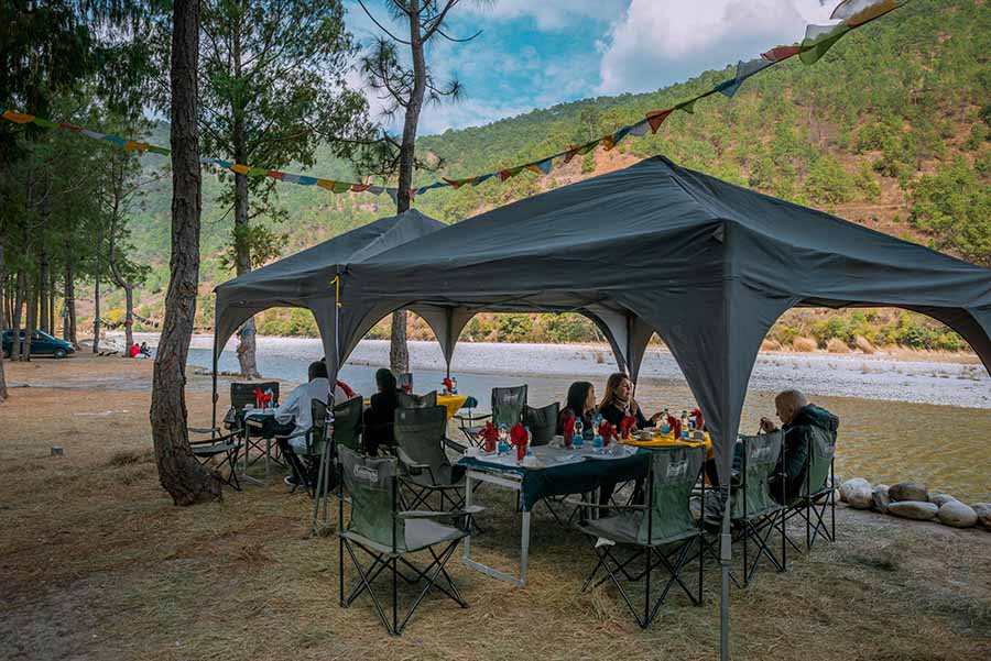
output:
<svg viewBox="0 0 991 661"><path fill-rule="evenodd" d="M632 0L603 42L600 93L646 91L801 41L819 0Z"/></svg>

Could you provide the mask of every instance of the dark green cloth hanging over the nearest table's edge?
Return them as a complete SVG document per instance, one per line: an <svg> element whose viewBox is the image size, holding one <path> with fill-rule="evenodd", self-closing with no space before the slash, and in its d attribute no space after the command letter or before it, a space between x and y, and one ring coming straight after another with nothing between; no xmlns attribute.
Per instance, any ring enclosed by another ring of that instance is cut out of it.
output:
<svg viewBox="0 0 991 661"><path fill-rule="evenodd" d="M639 450L636 454L624 459L586 459L582 462L547 469L504 466L481 461L473 456L465 456L458 461L458 464L468 469L522 475L523 485L520 502L524 510L531 510L541 498L546 498L547 496L584 494L596 491L605 484L617 484L646 477L649 456L649 450Z"/></svg>

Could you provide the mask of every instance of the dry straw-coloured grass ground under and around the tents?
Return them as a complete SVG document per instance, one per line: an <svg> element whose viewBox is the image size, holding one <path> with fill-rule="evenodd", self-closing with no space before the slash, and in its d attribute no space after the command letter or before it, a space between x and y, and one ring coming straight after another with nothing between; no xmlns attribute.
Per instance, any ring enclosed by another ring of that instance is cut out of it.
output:
<svg viewBox="0 0 991 661"><path fill-rule="evenodd" d="M704 607L672 599L641 631L613 591L579 594L591 552L543 508L525 590L454 561L471 607L431 598L389 638L368 599L338 607L336 538L308 535L305 495L276 484L172 505L150 452L151 367L8 365L11 382L47 387L0 405L0 659L716 657L717 571ZM205 421L208 381L190 386L190 418ZM66 455L50 456L52 444ZM505 565L519 539L510 502L484 502L493 514L476 546ZM991 533L838 516L838 543L732 593L734 659L991 658Z"/></svg>

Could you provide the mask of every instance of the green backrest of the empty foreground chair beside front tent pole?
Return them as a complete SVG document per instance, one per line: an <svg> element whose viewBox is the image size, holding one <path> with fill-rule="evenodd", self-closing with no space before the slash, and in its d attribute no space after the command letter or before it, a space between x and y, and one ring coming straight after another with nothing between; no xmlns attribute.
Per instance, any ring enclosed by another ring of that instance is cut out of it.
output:
<svg viewBox="0 0 991 661"><path fill-rule="evenodd" d="M650 516L643 517L640 522L636 539L641 543L698 529L698 521L691 516L688 500L706 462L706 450L703 447L672 445L655 448L650 452Z"/></svg>

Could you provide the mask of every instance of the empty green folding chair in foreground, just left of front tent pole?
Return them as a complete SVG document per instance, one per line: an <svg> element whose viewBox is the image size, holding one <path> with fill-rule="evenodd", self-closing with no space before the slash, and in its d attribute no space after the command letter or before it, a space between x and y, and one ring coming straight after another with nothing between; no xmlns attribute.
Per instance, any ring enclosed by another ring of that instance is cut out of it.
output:
<svg viewBox="0 0 991 661"><path fill-rule="evenodd" d="M597 562L591 573L581 585L581 592L595 588L612 581L620 596L633 615L636 624L647 628L667 598L672 587L678 585L690 602L700 606L703 602L703 572L705 562L703 547L703 522L695 520L689 506L693 489L701 475L706 453L704 448L671 447L652 449L644 461L650 462L647 469L646 505L597 505L585 500L571 500L569 504L582 508L598 510L616 510L617 514L598 519L581 520L578 528L592 538L592 548ZM705 481L703 481L703 504L705 504ZM697 543L698 551L689 555L691 547ZM632 554L620 560L620 547L632 547ZM634 563L643 559L643 569L632 569ZM682 572L693 560L698 560L698 590L693 592L682 580ZM606 575L596 579L599 570ZM668 579L661 591L661 596L652 604L651 588L654 570L663 569ZM644 582L642 615L633 606L630 595L621 580L628 583Z"/></svg>

